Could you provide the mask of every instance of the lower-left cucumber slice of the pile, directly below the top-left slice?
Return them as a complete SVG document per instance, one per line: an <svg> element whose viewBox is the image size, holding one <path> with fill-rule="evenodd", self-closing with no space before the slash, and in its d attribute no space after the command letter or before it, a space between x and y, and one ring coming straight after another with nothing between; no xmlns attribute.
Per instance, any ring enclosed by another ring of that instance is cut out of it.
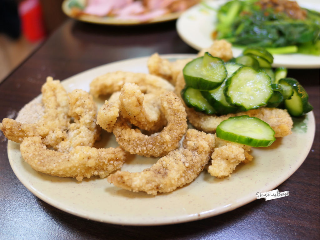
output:
<svg viewBox="0 0 320 240"><path fill-rule="evenodd" d="M185 87L181 91L181 97L189 108L194 108L198 112L215 114L216 111L209 102L202 96L200 90Z"/></svg>

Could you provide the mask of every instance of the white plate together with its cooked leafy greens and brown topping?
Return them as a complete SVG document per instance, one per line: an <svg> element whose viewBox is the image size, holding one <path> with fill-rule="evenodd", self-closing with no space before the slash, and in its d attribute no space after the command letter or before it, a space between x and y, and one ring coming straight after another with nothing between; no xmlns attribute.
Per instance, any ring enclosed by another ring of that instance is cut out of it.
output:
<svg viewBox="0 0 320 240"><path fill-rule="evenodd" d="M319 68L319 11L316 0L205 1L180 16L177 31L197 50L226 39L234 56L263 47L274 56L272 67Z"/></svg>

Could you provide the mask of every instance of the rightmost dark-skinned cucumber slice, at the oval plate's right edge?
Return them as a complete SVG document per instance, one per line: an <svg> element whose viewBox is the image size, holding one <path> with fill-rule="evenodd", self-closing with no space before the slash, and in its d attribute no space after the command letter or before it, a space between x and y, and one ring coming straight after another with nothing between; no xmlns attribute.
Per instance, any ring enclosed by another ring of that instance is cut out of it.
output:
<svg viewBox="0 0 320 240"><path fill-rule="evenodd" d="M280 81L286 82L293 89L291 99L284 100L284 107L291 116L302 116L310 112L313 107L308 102L309 96L299 82L294 78L282 78Z"/></svg>

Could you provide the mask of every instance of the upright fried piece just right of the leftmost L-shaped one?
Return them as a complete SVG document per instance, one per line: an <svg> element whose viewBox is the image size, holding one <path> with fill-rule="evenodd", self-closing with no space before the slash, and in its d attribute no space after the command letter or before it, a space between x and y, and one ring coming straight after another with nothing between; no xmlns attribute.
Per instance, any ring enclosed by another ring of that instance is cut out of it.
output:
<svg viewBox="0 0 320 240"><path fill-rule="evenodd" d="M100 128L96 124L97 105L92 95L80 89L68 94L69 112L73 118L67 130L67 137L55 149L58 152L70 152L76 146L92 147L100 136Z"/></svg>

